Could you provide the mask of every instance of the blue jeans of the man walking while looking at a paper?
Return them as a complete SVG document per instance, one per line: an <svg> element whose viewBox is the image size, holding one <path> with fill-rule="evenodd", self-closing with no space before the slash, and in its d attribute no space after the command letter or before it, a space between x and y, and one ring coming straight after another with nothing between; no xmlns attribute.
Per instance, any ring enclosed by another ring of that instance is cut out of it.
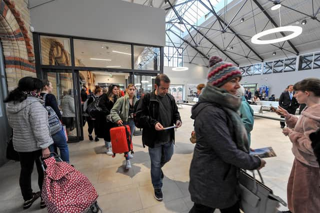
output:
<svg viewBox="0 0 320 213"><path fill-rule="evenodd" d="M162 188L161 168L167 163L173 155L173 142L160 145L155 144L154 148L149 149L151 160L151 182L154 189Z"/></svg>

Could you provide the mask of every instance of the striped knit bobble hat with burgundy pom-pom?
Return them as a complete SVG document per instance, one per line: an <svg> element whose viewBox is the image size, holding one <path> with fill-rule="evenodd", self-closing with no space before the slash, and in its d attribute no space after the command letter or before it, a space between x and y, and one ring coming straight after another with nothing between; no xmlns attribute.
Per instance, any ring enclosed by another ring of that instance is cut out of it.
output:
<svg viewBox="0 0 320 213"><path fill-rule="evenodd" d="M212 56L210 58L207 84L220 87L235 77L241 79L239 67L223 61L219 56Z"/></svg>

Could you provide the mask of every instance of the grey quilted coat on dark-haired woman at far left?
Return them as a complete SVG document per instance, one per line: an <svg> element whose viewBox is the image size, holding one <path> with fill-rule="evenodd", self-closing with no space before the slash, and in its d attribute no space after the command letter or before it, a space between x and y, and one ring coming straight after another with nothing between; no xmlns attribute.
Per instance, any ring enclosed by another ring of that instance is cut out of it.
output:
<svg viewBox="0 0 320 213"><path fill-rule="evenodd" d="M36 97L19 103L9 102L6 113L13 129L13 148L17 152L33 152L53 144L49 133L48 113Z"/></svg>

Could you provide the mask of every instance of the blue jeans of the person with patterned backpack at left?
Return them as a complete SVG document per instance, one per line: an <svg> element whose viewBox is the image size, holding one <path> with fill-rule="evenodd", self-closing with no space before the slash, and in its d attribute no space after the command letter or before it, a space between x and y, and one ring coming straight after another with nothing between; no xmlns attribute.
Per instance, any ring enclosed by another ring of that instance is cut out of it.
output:
<svg viewBox="0 0 320 213"><path fill-rule="evenodd" d="M59 148L62 161L69 163L69 149L68 145L66 144L63 129L61 129L54 135L51 135L51 137L53 140L53 144L49 146L50 152L54 152L55 147Z"/></svg>

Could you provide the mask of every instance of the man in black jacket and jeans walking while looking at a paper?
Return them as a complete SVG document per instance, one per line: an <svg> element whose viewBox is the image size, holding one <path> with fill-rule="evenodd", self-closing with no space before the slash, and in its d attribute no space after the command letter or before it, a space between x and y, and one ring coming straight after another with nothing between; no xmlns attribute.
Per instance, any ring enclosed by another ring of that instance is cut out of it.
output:
<svg viewBox="0 0 320 213"><path fill-rule="evenodd" d="M154 197L158 201L163 199L161 168L173 154L174 128L165 127L175 125L179 128L182 125L174 98L167 93L169 86L170 79L164 74L158 75L155 90L142 96L136 108L136 120L143 128L143 147L148 146Z"/></svg>

